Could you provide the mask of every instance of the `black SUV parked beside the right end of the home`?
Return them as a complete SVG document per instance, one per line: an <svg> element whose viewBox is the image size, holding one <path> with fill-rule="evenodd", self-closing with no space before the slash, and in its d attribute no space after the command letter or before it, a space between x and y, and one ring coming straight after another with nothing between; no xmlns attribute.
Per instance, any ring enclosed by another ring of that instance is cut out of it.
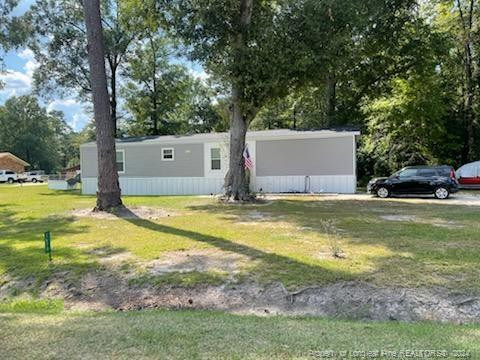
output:
<svg viewBox="0 0 480 360"><path fill-rule="evenodd" d="M381 198L433 194L437 199L446 199L458 191L458 181L451 166L409 166L388 178L370 180L367 191Z"/></svg>

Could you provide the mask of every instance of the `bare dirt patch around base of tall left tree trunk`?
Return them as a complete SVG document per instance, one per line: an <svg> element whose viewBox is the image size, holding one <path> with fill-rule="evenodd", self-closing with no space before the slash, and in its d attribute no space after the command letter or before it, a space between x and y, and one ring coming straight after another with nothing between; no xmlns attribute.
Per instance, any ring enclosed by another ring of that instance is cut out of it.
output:
<svg viewBox="0 0 480 360"><path fill-rule="evenodd" d="M88 217L101 220L118 220L118 219L143 219L156 220L164 217L176 216L173 211L152 208L148 206L137 207L121 207L113 213L104 211L93 211L92 209L78 209L71 212L76 217Z"/></svg>

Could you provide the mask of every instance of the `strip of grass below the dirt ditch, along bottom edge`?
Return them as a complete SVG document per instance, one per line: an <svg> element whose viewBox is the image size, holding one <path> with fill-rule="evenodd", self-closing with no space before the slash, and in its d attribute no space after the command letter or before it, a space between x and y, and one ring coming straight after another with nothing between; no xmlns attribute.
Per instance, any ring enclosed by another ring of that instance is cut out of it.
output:
<svg viewBox="0 0 480 360"><path fill-rule="evenodd" d="M349 359L374 358L369 351L370 355L384 351L382 359L405 359L412 358L407 356L411 351L421 350L447 355L429 358L480 356L480 327L474 325L264 318L205 311L27 310L2 313L0 307L4 359L319 359L328 351L337 355L348 351Z"/></svg>

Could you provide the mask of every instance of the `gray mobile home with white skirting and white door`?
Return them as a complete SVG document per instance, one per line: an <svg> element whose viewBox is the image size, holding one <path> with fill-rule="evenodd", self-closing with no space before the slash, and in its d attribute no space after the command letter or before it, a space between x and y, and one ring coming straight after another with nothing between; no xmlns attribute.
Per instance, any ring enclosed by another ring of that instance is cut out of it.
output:
<svg viewBox="0 0 480 360"><path fill-rule="evenodd" d="M354 193L358 131L251 131L251 188L265 193ZM124 195L219 194L228 170L228 133L116 141ZM82 192L97 190L97 148L80 147Z"/></svg>

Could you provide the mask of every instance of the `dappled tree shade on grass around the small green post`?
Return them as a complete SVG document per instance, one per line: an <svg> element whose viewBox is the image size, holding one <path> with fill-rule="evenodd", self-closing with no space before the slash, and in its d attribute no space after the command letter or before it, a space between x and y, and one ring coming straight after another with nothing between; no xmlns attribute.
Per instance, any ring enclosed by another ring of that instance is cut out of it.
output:
<svg viewBox="0 0 480 360"><path fill-rule="evenodd" d="M87 229L76 224L74 218L19 218L16 214L7 206L0 208L0 280L4 278L7 287L15 286L16 291L20 292L35 292L55 273L68 273L69 277L74 278L94 266L92 256L65 242L65 236L82 233ZM51 262L44 250L45 231L52 234ZM63 238L62 241L57 242L60 237ZM12 285L12 281L16 285ZM0 295L3 293L5 296L2 286L0 281Z"/></svg>

